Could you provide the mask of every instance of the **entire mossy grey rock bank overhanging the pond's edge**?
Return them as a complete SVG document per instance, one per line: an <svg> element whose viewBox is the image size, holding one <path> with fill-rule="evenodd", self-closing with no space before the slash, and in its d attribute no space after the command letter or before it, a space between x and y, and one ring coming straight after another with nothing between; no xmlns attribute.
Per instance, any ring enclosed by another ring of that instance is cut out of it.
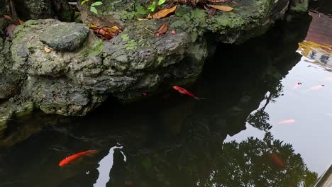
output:
<svg viewBox="0 0 332 187"><path fill-rule="evenodd" d="M87 11L92 3L79 6L85 10L84 22L125 30L103 41L85 24L26 21L16 28L8 60L0 61L9 64L5 72L14 75L11 79L0 75L3 88L13 90L0 94L0 99L20 91L22 101L45 113L85 115L109 96L136 101L172 84L192 83L213 52L211 46L239 43L265 33L276 19L284 17L289 1L242 0L231 4L233 11L217 11L212 18L207 18L203 8L181 4L175 16L143 21L137 18L148 16L148 1L106 1L96 7L98 14ZM166 21L165 35L155 35Z"/></svg>

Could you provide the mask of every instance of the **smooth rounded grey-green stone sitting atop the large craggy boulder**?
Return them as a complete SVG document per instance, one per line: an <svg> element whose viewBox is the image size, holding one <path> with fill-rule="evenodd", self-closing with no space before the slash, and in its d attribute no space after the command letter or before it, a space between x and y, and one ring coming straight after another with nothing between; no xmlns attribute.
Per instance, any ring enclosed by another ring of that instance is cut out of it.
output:
<svg viewBox="0 0 332 187"><path fill-rule="evenodd" d="M81 47L89 28L80 23L60 23L45 29L40 41L57 51L72 51Z"/></svg>

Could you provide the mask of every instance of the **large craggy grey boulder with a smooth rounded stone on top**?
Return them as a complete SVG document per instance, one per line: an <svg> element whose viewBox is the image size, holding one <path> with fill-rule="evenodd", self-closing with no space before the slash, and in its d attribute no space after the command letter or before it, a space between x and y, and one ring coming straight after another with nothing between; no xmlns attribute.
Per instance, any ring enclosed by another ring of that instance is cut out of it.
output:
<svg viewBox="0 0 332 187"><path fill-rule="evenodd" d="M45 113L85 115L109 95L121 101L137 100L143 92L157 91L162 82L194 79L207 55L205 40L193 42L190 34L180 31L142 37L143 28L128 28L104 42L93 33L84 37L85 27L39 20L27 21L16 30L13 70L28 75L21 96L32 98ZM82 35L62 30L82 30ZM59 32L60 39L52 37ZM67 42L77 50L71 51Z"/></svg>

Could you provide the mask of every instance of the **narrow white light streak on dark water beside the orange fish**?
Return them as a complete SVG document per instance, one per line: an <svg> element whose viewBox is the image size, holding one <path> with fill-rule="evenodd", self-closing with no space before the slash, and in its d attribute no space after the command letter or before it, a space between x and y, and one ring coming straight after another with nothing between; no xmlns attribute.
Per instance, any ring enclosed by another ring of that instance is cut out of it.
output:
<svg viewBox="0 0 332 187"><path fill-rule="evenodd" d="M114 149L122 149L123 147L111 147L109 149L109 154L107 154L101 161L98 163L99 167L97 170L99 171L99 176L98 179L96 180L96 183L94 183L94 187L101 187L101 186L106 186L106 183L109 181L109 172L112 169L113 166L113 154L114 154ZM121 152L123 154L123 152ZM124 154L123 154L124 156ZM126 157L125 162L126 162Z"/></svg>

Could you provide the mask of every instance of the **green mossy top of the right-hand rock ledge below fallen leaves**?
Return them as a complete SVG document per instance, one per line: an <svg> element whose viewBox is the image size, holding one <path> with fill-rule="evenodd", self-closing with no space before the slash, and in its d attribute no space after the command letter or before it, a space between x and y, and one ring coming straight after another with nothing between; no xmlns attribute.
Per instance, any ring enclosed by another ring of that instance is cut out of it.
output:
<svg viewBox="0 0 332 187"><path fill-rule="evenodd" d="M272 1L250 1L250 5L233 6L235 7L233 11L216 11L216 14L208 19L204 9L192 9L181 5L175 11L175 15L179 19L171 26L187 33L194 33L194 36L203 35L206 31L227 34L231 30L249 30L260 26L260 21L269 16ZM196 38L195 36L193 40Z"/></svg>

